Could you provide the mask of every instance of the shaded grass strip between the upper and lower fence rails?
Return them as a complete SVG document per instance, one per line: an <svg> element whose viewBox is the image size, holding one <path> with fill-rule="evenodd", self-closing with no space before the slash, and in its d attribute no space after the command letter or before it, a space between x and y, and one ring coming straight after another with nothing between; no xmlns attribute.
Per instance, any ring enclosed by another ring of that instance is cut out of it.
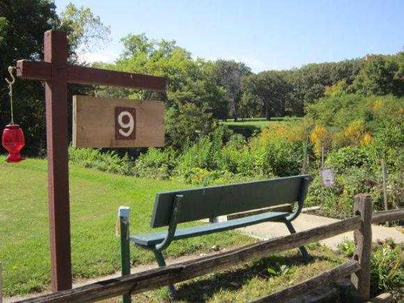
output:
<svg viewBox="0 0 404 303"><path fill-rule="evenodd" d="M306 260L297 249L292 249L178 283L177 299L180 302L249 302L310 279L347 261L344 256L319 244L307 247L311 258ZM166 288L134 295L132 298L132 302L168 300ZM118 298L109 302L118 302Z"/></svg>

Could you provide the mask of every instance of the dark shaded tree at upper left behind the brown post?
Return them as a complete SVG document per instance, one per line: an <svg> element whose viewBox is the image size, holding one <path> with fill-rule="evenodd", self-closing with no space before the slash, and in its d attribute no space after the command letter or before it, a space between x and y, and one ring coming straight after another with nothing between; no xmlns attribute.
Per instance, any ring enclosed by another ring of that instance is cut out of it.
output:
<svg viewBox="0 0 404 303"><path fill-rule="evenodd" d="M72 6L70 6L72 8ZM81 8L79 11L88 8ZM88 31L75 33L77 29L95 30L100 23L92 14L81 16L79 20L68 22L68 15L62 18L56 14L53 1L47 0L0 0L0 123L1 127L10 122L10 103L5 77L9 77L7 68L15 65L18 59L43 59L43 33L49 29L62 29L70 37L70 62L77 57L75 52L82 41L90 41L91 36L82 38ZM29 20L29 22L27 22ZM75 26L72 27L72 24ZM68 95L87 90L84 86L68 86ZM15 121L20 123L25 131L26 148L24 153L38 155L45 150L45 96L40 81L20 81L14 86ZM71 111L70 111L71 112ZM71 121L71 119L69 119ZM71 127L71 125L70 125Z"/></svg>

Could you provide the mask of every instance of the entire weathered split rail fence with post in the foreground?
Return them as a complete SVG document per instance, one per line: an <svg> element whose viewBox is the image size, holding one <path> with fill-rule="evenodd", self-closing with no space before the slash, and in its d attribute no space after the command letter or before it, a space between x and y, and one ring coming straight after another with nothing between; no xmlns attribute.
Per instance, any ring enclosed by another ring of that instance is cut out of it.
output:
<svg viewBox="0 0 404 303"><path fill-rule="evenodd" d="M272 293L256 302L284 302L290 298L308 293L309 290L321 288L327 283L333 283L348 276L351 277L352 284L357 289L359 297L367 300L370 295L371 224L404 219L404 209L374 212L372 214L370 195L358 194L355 196L354 215L355 217L350 219L250 244L214 256L205 256L137 274L127 274L116 279L98 281L72 290L63 290L49 295L33 297L24 302L92 302L129 293L133 295L200 277L204 274L245 263L257 257L265 257L268 254L301 247L304 244L331 238L334 235L348 231L354 231L356 245L355 254L351 261L295 286Z"/></svg>

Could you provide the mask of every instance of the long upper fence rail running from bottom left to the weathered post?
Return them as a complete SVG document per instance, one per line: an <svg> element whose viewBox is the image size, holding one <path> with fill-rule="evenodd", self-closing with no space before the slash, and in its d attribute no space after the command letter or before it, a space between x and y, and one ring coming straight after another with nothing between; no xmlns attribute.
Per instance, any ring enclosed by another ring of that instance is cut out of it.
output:
<svg viewBox="0 0 404 303"><path fill-rule="evenodd" d="M224 251L214 256L205 256L192 261L130 274L125 277L99 281L72 290L35 297L24 302L90 302L116 297L129 292L132 294L142 293L146 290L153 290L242 264L254 258L327 239L334 235L357 229L360 224L360 217L352 217L340 222L294 233L293 235L250 244L232 251Z"/></svg>

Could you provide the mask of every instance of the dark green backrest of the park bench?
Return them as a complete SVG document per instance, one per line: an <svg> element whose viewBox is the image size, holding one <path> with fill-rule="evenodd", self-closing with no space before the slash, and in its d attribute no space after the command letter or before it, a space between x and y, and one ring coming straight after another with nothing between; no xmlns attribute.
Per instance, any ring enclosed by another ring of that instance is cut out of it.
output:
<svg viewBox="0 0 404 303"><path fill-rule="evenodd" d="M293 176L156 194L151 227L169 225L173 201L183 195L178 223L304 201L309 176Z"/></svg>

